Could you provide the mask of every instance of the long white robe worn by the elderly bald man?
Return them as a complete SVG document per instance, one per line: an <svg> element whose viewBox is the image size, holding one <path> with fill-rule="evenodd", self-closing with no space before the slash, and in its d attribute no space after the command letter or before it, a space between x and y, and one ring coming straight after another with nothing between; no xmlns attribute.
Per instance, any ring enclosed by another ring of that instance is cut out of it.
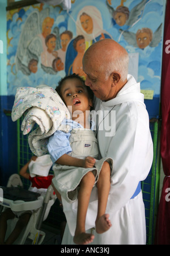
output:
<svg viewBox="0 0 170 256"><path fill-rule="evenodd" d="M107 102L97 99L95 110L101 110L97 112L97 139L101 157L113 159L111 191L106 210L110 214L112 227L103 234L94 231L95 239L91 245L145 244L142 191L131 199L139 181L146 179L153 159L149 118L140 84L128 75L128 82L117 96ZM67 205L63 201L63 207L69 217L62 244L70 245L74 244L76 204ZM86 230L95 226L96 212L97 191L94 188L87 212ZM90 230L87 232L90 233Z"/></svg>

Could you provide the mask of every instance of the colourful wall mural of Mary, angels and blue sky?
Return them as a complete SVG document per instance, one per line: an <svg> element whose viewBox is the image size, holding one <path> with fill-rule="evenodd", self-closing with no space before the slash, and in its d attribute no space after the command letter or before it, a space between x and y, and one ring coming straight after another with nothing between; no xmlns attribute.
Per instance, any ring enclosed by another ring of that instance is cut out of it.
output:
<svg viewBox="0 0 170 256"><path fill-rule="evenodd" d="M71 73L86 76L84 51L112 38L128 51L143 92L160 97L164 12L163 0L72 0L69 11L42 3L7 11L8 95L20 86L56 88Z"/></svg>

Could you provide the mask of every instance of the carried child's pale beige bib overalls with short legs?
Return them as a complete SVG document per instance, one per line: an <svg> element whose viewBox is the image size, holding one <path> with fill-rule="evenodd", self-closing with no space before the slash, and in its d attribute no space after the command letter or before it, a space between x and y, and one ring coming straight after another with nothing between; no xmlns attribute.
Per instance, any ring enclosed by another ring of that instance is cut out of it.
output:
<svg viewBox="0 0 170 256"><path fill-rule="evenodd" d="M98 146L94 131L86 129L73 129L71 131L69 141L72 148L72 152L69 153L69 155L81 159L85 159L87 156L97 158ZM78 186L83 176L86 175L87 172L93 172L96 184L105 161L110 164L112 175L113 160L111 158L96 160L95 166L92 168L54 164L54 178L52 182L62 197L69 203L73 203L77 199Z"/></svg>

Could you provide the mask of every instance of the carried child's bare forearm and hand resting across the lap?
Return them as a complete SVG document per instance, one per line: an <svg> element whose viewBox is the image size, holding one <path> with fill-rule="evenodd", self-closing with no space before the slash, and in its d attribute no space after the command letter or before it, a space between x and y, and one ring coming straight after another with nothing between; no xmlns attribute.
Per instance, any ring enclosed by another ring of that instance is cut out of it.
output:
<svg viewBox="0 0 170 256"><path fill-rule="evenodd" d="M91 156L87 156L85 159L73 158L73 156L64 154L56 161L57 164L61 164L62 166L76 166L76 167L84 167L91 168L94 167L96 160Z"/></svg>

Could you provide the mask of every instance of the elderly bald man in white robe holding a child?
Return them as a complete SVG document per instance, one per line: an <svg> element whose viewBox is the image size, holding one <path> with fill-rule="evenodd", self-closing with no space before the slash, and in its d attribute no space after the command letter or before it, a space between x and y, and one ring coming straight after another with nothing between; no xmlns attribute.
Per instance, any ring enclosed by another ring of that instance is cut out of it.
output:
<svg viewBox="0 0 170 256"><path fill-rule="evenodd" d="M85 84L96 97L100 156L113 159L106 210L112 227L103 234L94 232L91 244L146 243L141 181L146 179L152 165L153 144L144 96L140 84L128 75L128 63L128 53L112 39L92 44L83 57ZM95 200L91 200L87 222L96 214L95 205ZM67 228L62 243L73 244Z"/></svg>

